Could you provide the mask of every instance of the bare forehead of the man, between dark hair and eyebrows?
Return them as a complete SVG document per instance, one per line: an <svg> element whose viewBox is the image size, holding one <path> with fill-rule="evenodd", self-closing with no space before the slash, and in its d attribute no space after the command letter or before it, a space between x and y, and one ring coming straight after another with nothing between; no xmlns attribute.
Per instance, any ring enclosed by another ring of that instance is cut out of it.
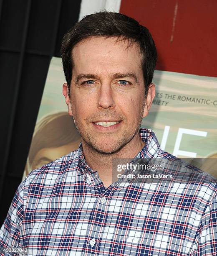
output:
<svg viewBox="0 0 217 256"><path fill-rule="evenodd" d="M117 37L91 37L78 43L71 54L73 77L80 73L138 73L142 57L136 44Z"/></svg>

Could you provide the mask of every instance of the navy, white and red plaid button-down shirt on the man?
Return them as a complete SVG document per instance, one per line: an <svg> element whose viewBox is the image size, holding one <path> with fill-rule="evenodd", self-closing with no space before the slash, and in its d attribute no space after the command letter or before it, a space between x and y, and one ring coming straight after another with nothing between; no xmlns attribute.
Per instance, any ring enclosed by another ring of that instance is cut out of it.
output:
<svg viewBox="0 0 217 256"><path fill-rule="evenodd" d="M136 158L177 161L151 130L140 136L146 144ZM199 182L105 188L80 145L20 184L0 230L0 255L25 247L29 256L217 255L217 183L189 168Z"/></svg>

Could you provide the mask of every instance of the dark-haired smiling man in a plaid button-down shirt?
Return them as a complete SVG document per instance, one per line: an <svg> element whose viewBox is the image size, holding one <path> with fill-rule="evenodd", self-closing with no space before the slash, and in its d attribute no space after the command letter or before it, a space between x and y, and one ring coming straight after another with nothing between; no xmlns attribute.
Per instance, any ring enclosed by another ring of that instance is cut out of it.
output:
<svg viewBox="0 0 217 256"><path fill-rule="evenodd" d="M155 95L149 31L119 13L88 15L63 38L62 58L63 94L81 145L20 184L1 229L2 250L216 255L216 180L162 151L151 130L139 130ZM112 179L115 159L170 161L157 173L170 172L176 182L136 182L128 168L126 179Z"/></svg>

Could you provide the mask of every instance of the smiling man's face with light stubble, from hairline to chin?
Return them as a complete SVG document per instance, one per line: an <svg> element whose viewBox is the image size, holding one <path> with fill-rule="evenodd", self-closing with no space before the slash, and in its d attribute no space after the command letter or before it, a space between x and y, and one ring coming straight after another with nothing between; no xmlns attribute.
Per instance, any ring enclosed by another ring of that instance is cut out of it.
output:
<svg viewBox="0 0 217 256"><path fill-rule="evenodd" d="M116 38L81 41L72 51L71 99L63 86L83 142L101 153L113 153L131 141L148 114L139 47L127 46L128 41Z"/></svg>

